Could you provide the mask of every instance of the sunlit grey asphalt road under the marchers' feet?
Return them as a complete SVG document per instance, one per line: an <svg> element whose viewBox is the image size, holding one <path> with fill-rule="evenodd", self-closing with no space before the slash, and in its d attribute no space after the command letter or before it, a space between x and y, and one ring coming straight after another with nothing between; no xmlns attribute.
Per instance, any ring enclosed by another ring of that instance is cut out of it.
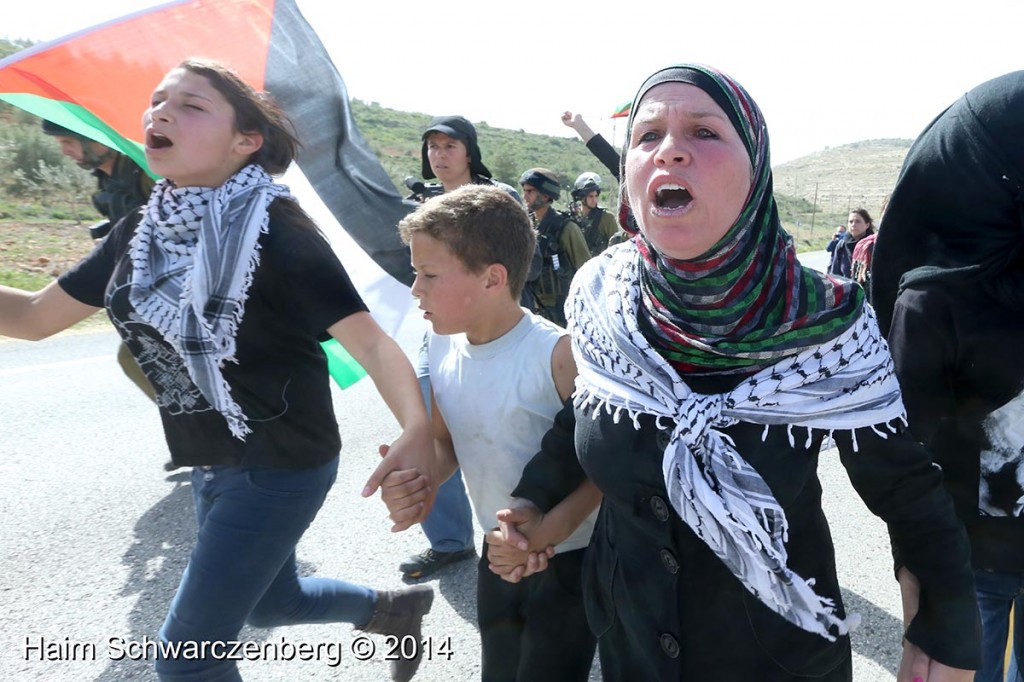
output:
<svg viewBox="0 0 1024 682"><path fill-rule="evenodd" d="M412 354L419 338L413 326L399 342ZM187 475L162 469L159 418L121 375L116 345L105 330L0 341L0 680L155 678L151 660L134 658L163 622L196 528ZM299 559L308 573L393 589L402 585L398 562L425 547L423 536L389 532L383 504L359 491L377 444L397 426L369 380L336 391L335 403L341 473ZM900 626L889 543L835 455L822 454L821 478L845 600L863 617L854 675L891 680ZM437 592L425 631L433 652L417 680L479 678L475 571L467 561L428 581ZM387 680L385 642L374 638L360 660L358 636L345 625L247 629L243 640L272 645L279 659L240 668L253 681ZM303 650L316 655L301 660Z"/></svg>

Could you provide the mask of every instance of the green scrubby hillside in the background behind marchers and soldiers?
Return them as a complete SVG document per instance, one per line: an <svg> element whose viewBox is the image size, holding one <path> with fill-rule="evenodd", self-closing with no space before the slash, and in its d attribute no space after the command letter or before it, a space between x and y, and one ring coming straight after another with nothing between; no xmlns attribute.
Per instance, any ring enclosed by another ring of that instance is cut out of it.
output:
<svg viewBox="0 0 1024 682"><path fill-rule="evenodd" d="M27 46L24 41L0 40L0 56ZM404 178L421 176L420 135L431 115L358 99L352 100L352 111L371 148L406 194ZM549 168L561 178L559 206L564 207L577 176L593 171L604 180L602 204L614 205L614 178L580 139L495 128L483 121L474 124L484 163L497 179L517 186L527 168ZM866 140L774 168L779 215L798 248L822 248L851 208L862 206L877 216L909 145L905 139ZM92 178L60 157L53 140L42 134L38 119L0 102L0 219L91 220L92 186Z"/></svg>

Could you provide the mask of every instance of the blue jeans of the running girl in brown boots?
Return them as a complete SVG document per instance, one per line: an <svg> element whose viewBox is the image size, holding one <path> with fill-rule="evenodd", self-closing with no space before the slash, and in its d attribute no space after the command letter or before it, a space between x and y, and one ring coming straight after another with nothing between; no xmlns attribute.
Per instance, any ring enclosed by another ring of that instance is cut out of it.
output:
<svg viewBox="0 0 1024 682"><path fill-rule="evenodd" d="M242 626L367 625L377 593L324 578L299 578L295 546L338 473L315 469L193 469L199 538L160 629L164 642L231 642ZM215 650L216 653L216 650ZM233 660L158 656L163 682L236 682Z"/></svg>

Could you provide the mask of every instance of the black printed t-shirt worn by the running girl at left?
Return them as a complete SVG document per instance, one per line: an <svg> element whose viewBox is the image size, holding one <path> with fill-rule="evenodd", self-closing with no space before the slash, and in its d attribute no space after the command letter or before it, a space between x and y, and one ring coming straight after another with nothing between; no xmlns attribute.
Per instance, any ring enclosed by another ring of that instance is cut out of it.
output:
<svg viewBox="0 0 1024 682"><path fill-rule="evenodd" d="M252 433L240 440L191 381L181 356L129 300L130 243L141 213L110 236L58 284L73 298L106 308L157 393L167 445L179 466L232 464L310 468L337 456L341 437L331 400L327 329L367 310L322 233L270 207L259 264L238 329L236 360L222 368Z"/></svg>

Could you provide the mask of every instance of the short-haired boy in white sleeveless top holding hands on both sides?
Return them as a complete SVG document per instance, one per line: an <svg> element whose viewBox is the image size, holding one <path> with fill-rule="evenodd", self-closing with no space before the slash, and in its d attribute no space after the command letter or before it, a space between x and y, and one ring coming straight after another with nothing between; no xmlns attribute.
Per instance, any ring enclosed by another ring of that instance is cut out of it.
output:
<svg viewBox="0 0 1024 682"><path fill-rule="evenodd" d="M512 501L577 374L565 330L519 306L536 241L529 217L501 189L467 185L428 202L398 228L417 271L413 295L433 330L436 450L417 469L392 472L382 498L396 529L408 527L424 516L427 483L436 489L461 466L485 530L477 579L481 679L587 680L596 640L580 571L597 488L584 481L530 532L547 570L518 583L501 577L513 566L531 572L527 553L503 542L496 513Z"/></svg>

